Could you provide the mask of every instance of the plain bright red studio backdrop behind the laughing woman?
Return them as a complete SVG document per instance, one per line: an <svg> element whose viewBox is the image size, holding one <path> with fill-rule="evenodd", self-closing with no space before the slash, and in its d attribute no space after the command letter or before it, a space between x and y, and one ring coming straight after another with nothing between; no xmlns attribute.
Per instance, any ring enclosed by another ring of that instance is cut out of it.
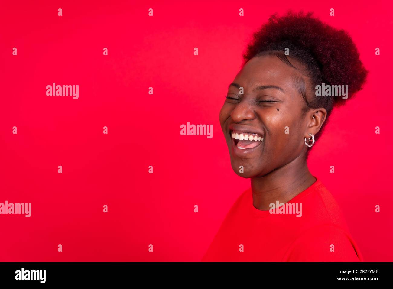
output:
<svg viewBox="0 0 393 289"><path fill-rule="evenodd" d="M199 261L250 186L230 166L224 94L252 33L290 8L347 30L370 72L331 114L309 168L365 261L393 261L392 7L354 3L3 2L0 202L32 208L30 218L0 215L0 261ZM79 99L46 96L53 82L79 85ZM213 138L181 136L187 121L213 124Z"/></svg>

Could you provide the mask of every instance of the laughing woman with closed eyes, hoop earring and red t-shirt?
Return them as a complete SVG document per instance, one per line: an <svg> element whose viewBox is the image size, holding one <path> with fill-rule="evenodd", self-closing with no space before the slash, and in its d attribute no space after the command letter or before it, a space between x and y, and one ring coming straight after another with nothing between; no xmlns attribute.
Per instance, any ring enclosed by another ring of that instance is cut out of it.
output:
<svg viewBox="0 0 393 289"><path fill-rule="evenodd" d="M253 36L220 111L232 168L251 188L202 261L363 261L333 196L307 168L333 107L365 82L356 47L311 13L273 15Z"/></svg>

